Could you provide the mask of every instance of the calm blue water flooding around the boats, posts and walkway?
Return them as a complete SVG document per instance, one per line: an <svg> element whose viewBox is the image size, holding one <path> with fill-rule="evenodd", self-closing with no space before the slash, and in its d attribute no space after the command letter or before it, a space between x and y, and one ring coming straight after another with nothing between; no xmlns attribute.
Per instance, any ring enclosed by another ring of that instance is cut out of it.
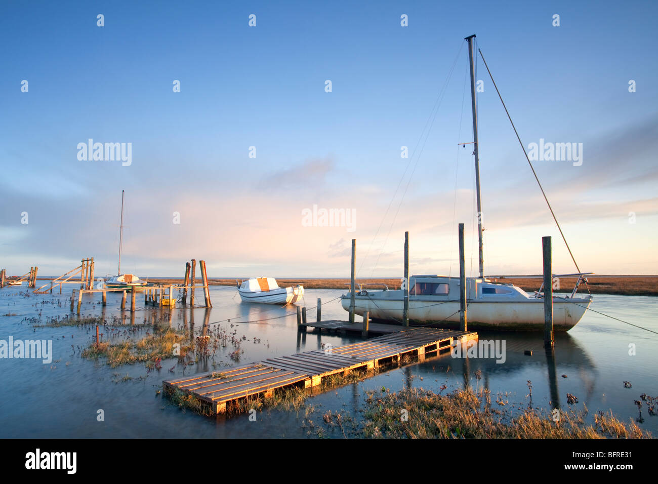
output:
<svg viewBox="0 0 658 484"><path fill-rule="evenodd" d="M70 294L70 289L66 292ZM346 319L347 313L340 301L334 300L341 292L309 289L302 305L314 307L316 299L322 298L323 319ZM198 296L203 298L203 292L197 292ZM130 311L122 313L120 310L118 295L109 294L105 308L100 304L99 295L93 299L85 296L81 315L119 317L126 327L131 324L139 327L153 321L172 327L188 324L196 333L207 322L212 327L220 326L234 333L236 338L245 336L240 346L244 350L240 357L243 363L316 350L327 343L336 347L360 340L355 336L313 333L297 336L294 307L243 304L234 288L213 286L211 297L213 309L194 309L193 314L190 309L180 307L172 311L150 306L145 309L143 297L138 297L139 311L131 321ZM447 354L313 396L306 403L308 412L265 410L257 413L256 422L249 421L247 414L228 418L201 417L189 411L182 412L157 391L161 390L163 379L201 371L221 371L222 367L236 364L228 356L234 350L232 344L220 348L215 360L188 365L187 369L176 365L174 358L163 361L161 369L150 372L144 363L111 368L80 356L80 348L92 342L95 330L34 327L47 323L49 317L61 318L69 314L69 301L65 294L34 295L26 288L0 291L0 313L3 314L0 315L0 339L8 340L13 336L14 340L53 340L50 364L43 364L41 360L0 359L0 388L4 396L0 399L0 437L308 437L316 435L309 431L309 418L321 425L322 414L328 410L358 417L365 390L382 387L391 391L406 387L438 391L443 384L450 390L467 382L472 387L488 387L493 401L497 393L502 394L503 400L509 402L506 408L524 408L528 405L526 382L530 380L535 407L551 408L549 402L557 402L561 408L584 410L586 406L590 415L597 410L612 410L625 421L638 417L634 400L639 400L640 394L658 396L658 335L588 311L574 329L557 336L552 364L542 350L540 334L480 333L480 339L505 340L505 363L483 358L455 359ZM591 308L658 331L657 298L597 295ZM290 317L280 317L287 314ZM309 319L315 319L315 309L309 310ZM138 336L143 336L145 331L146 328L141 329ZM123 331L114 331L113 335L114 338L126 337ZM635 356L629 355L630 344L635 345ZM524 350L533 350L533 355L524 356ZM170 372L170 368L174 371ZM478 370L480 379L474 376ZM126 375L132 379L124 381ZM630 381L632 387L624 388L624 381ZM578 404L569 406L567 393L578 397ZM103 422L97 421L99 409L105 412ZM638 425L658 435L658 417L649 416L646 406L642 417L644 421ZM342 438L343 431L325 429L324 435Z"/></svg>

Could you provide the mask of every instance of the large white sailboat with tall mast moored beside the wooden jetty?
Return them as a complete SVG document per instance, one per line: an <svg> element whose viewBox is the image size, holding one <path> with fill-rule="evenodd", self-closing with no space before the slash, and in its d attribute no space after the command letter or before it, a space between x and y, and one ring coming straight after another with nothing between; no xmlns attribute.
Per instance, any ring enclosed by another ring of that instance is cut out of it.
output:
<svg viewBox="0 0 658 484"><path fill-rule="evenodd" d="M478 155L478 117L476 110L476 80L474 76L473 40L468 41L470 63L470 95L473 117L473 142L475 158L476 200L478 214L482 214L480 198L480 160ZM502 99L501 99L502 100ZM556 220L557 222L557 220ZM466 279L468 327L476 329L544 331L544 293L542 287L528 294L514 284L491 281L484 277L482 244L482 217L478 216L480 277ZM565 241L566 242L566 241ZM574 259L575 262L575 259ZM576 265L577 267L577 265ZM578 269L580 271L580 269ZM578 276L576 286L569 296L553 296L553 329L569 331L582 318L592 303L592 294L576 296L581 282L587 282L591 273L569 274ZM401 323L405 297L408 300L410 325L459 327L460 294L459 277L441 275L415 275L409 283L402 279L399 290L359 290L355 293L355 314L368 311L370 318ZM405 289L409 289L408 295ZM341 304L350 310L351 293L341 296Z"/></svg>

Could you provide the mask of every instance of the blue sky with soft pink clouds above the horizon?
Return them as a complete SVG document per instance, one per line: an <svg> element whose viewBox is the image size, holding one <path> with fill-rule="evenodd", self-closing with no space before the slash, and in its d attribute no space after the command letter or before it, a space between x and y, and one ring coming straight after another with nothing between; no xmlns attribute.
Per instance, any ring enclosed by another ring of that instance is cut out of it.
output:
<svg viewBox="0 0 658 484"><path fill-rule="evenodd" d="M476 275L476 34L524 147L581 147L533 162L580 269L658 274L657 5L4 1L0 266L116 275L125 190L142 279L349 277L351 239L357 277L401 277L405 231L412 274L458 275L459 223ZM542 236L575 272L480 57L476 80L485 273L540 274Z"/></svg>

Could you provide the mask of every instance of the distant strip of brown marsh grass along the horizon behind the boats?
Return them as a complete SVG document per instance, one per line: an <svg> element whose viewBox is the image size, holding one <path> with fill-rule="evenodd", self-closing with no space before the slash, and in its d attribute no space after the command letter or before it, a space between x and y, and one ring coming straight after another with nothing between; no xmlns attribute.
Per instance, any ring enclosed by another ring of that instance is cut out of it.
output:
<svg viewBox="0 0 658 484"><path fill-rule="evenodd" d="M519 286L525 291L532 292L538 290L542 284L540 277L492 277L492 281L512 283ZM279 286L286 287L293 284L301 284L307 289L343 289L349 288L349 278L346 279L276 279ZM605 276L593 275L588 277L588 288L592 294L620 294L622 296L658 296L658 276ZM159 279L151 278L149 282L156 284L182 284L183 279ZM197 279L197 284L201 281ZM211 286L234 286L235 279L209 279ZM380 289L386 284L389 289L400 288L400 278L383 278L383 279L357 279L359 284L368 284L364 288ZM565 277L560 279L560 289L553 292L571 292L576 277ZM578 293L587 293L584 284L580 284Z"/></svg>

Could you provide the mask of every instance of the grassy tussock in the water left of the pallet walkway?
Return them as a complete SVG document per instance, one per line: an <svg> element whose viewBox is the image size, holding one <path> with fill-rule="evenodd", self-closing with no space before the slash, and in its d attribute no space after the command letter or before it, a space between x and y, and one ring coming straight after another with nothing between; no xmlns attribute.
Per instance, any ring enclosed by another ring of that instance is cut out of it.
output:
<svg viewBox="0 0 658 484"><path fill-rule="evenodd" d="M174 344L176 343L181 344L180 354L184 355L190 348L182 345L183 339L183 335L168 328L162 333L147 335L135 342L93 343L82 350L82 356L89 360L106 358L107 364L113 368L138 362L152 362L158 358L171 358L174 355Z"/></svg>

